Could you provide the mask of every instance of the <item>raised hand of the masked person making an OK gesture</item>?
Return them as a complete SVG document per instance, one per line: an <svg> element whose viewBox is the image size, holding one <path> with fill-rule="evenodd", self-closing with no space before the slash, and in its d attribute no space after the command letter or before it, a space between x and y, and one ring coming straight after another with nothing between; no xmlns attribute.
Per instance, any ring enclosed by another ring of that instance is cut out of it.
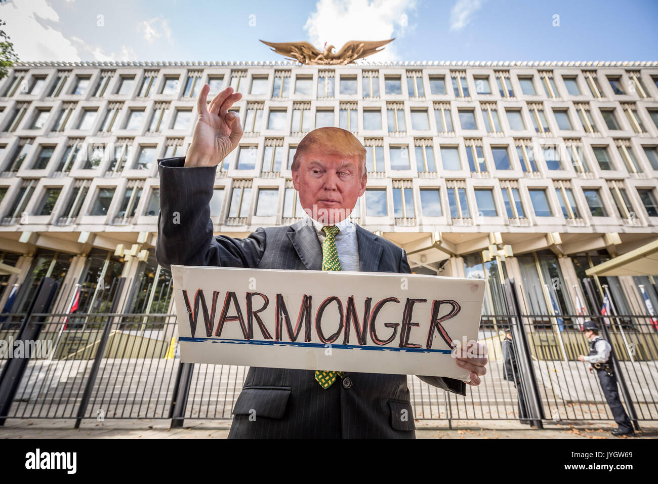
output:
<svg viewBox="0 0 658 484"><path fill-rule="evenodd" d="M240 117L228 109L240 101L242 94L234 93L232 87L217 94L207 106L209 84L203 84L197 111L199 118L194 126L192 143L185 157L186 167L215 167L228 153L236 149L242 138Z"/></svg>

